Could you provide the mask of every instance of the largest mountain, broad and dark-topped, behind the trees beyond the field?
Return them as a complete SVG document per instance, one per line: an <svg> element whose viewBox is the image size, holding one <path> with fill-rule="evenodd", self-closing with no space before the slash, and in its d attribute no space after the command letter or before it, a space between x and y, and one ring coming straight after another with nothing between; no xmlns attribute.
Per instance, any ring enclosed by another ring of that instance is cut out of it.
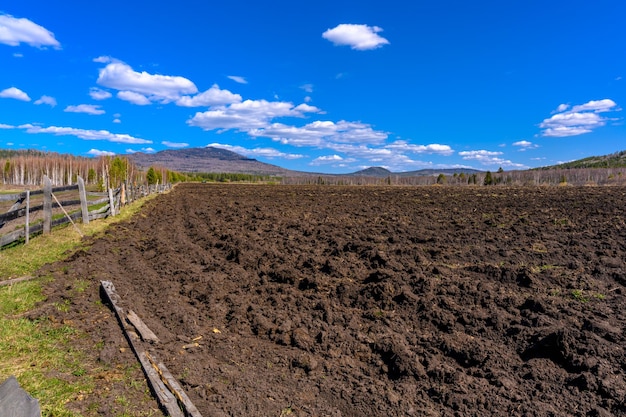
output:
<svg viewBox="0 0 626 417"><path fill-rule="evenodd" d="M151 166L165 167L176 172L219 172L254 175L285 176L293 171L276 165L259 162L226 149L189 148L165 150L157 153L136 152L128 155L139 168L148 169Z"/></svg>

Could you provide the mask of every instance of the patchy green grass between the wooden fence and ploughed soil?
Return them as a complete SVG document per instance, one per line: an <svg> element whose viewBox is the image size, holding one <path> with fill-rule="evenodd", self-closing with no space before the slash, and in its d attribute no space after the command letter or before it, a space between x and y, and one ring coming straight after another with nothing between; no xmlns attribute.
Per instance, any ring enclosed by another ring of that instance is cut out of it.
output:
<svg viewBox="0 0 626 417"><path fill-rule="evenodd" d="M125 207L114 218L78 226L85 235L98 235L110 224L136 214L151 197ZM0 250L0 281L34 275L43 265L60 261L85 245L73 227L64 227L35 237L28 245ZM0 383L14 375L22 388L39 400L44 416L77 416L66 404L88 396L94 386L93 372L85 368L85 354L72 347L73 340L86 335L68 324L25 317L45 300L42 283L46 279L51 278L0 287ZM72 291L83 292L88 285L88 281L76 280ZM63 311L71 305L61 303L55 307ZM127 385L132 383L127 376L121 378ZM119 403L125 405L124 398Z"/></svg>

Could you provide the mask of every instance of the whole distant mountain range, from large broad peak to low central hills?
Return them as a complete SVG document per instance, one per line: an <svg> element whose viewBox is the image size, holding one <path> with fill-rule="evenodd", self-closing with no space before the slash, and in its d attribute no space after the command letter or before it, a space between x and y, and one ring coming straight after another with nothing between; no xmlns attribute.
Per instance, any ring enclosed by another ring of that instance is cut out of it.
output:
<svg viewBox="0 0 626 417"><path fill-rule="evenodd" d="M388 176L414 177L420 175L453 175L455 173L471 174L481 172L475 169L422 169L409 172L391 172L382 167L367 168L351 174L322 174L304 171L292 171L277 165L259 162L256 159L247 158L238 153L207 146L205 148L189 148L177 150L165 150L157 153L137 152L127 155L139 168L148 169L151 166L161 166L171 171L196 173L236 173L274 176L367 176L385 178Z"/></svg>

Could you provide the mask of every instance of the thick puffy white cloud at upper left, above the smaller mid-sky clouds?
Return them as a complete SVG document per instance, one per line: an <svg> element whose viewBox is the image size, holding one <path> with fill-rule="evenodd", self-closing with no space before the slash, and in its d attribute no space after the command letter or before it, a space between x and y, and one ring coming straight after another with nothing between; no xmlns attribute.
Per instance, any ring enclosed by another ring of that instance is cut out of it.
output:
<svg viewBox="0 0 626 417"><path fill-rule="evenodd" d="M160 103L176 101L183 95L198 92L196 85L184 77L137 72L128 64L109 57L96 59L97 62L109 62L106 67L100 69L98 76L98 84L104 87L131 91Z"/></svg>

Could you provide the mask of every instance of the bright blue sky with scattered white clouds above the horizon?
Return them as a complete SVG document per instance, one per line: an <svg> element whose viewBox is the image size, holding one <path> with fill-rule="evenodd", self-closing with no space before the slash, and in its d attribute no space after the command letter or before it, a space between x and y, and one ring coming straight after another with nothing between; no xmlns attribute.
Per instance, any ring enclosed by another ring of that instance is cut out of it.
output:
<svg viewBox="0 0 626 417"><path fill-rule="evenodd" d="M20 0L0 148L223 147L301 171L626 149L626 2Z"/></svg>

